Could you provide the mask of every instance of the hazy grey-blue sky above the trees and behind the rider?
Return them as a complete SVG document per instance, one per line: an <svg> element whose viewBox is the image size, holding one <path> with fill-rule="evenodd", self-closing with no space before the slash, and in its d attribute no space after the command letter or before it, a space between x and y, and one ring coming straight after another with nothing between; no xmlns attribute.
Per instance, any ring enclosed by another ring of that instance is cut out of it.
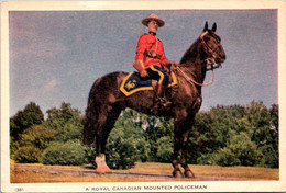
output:
<svg viewBox="0 0 286 193"><path fill-rule="evenodd" d="M10 116L31 101L45 113L68 102L85 111L94 81L112 71L134 71L135 46L156 13L169 60L179 61L217 22L227 60L215 83L202 88L202 107L277 103L277 10L144 10L10 12ZM210 75L206 78L206 82Z"/></svg>

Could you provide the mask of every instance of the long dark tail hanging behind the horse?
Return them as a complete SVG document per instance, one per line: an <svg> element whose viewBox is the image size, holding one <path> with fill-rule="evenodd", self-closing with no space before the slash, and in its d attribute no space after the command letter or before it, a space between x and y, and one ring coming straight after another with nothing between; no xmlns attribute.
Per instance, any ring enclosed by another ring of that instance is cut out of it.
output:
<svg viewBox="0 0 286 193"><path fill-rule="evenodd" d="M96 83L92 86L89 96L88 96L88 103L87 103L87 110L86 110L86 116L85 116L85 123L84 123L84 133L82 133L82 145L90 145L95 141L96 137L96 128L95 128L95 122L98 120L98 102L95 98L96 95Z"/></svg>

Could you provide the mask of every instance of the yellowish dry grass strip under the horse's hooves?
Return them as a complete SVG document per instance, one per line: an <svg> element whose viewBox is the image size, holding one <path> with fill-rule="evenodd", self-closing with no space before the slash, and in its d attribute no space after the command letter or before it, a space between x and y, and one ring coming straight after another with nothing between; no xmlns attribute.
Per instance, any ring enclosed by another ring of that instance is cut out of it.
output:
<svg viewBox="0 0 286 193"><path fill-rule="evenodd" d="M35 164L20 164L11 162L11 166L32 167L45 169L61 169L61 170L85 170L94 171L91 166L44 166ZM250 179L250 180L279 180L279 170L271 168L258 167L219 167L219 166L190 166L196 177L211 177L211 178L233 178L233 179ZM123 173L145 173L145 174L172 174L173 167L170 163L156 162L138 162L134 168L129 170L113 170L113 172ZM189 179L168 179L174 181L189 181ZM197 179L190 179L197 180ZM48 183L48 182L154 182L166 181L164 179L154 179L147 177L122 177L110 174L78 174L78 173L53 173L50 171L30 171L30 170L12 170L11 183ZM200 179L201 181L201 179Z"/></svg>

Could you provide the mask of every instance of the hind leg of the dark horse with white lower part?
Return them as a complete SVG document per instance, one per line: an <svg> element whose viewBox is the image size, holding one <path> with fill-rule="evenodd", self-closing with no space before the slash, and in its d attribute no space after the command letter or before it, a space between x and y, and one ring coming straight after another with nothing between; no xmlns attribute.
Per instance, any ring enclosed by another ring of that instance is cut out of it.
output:
<svg viewBox="0 0 286 193"><path fill-rule="evenodd" d="M114 123L121 112L121 109L117 105L109 105L107 111L101 112L98 120L98 127L96 134L96 172L97 173L109 173L110 168L106 163L106 145L108 136L114 126Z"/></svg>

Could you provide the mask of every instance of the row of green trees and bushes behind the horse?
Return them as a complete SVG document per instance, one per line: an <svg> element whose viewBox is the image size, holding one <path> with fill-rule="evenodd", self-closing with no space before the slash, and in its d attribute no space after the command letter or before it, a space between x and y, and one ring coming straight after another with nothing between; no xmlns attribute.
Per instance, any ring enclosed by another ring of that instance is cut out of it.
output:
<svg viewBox="0 0 286 193"><path fill-rule="evenodd" d="M94 163L95 146L81 146L85 116L72 104L52 107L47 118L29 103L10 118L11 159L44 164ZM136 161L169 162L173 124L168 117L122 111L107 143L112 169ZM217 105L200 111L189 135L188 159L193 164L260 166L278 168L278 105Z"/></svg>

